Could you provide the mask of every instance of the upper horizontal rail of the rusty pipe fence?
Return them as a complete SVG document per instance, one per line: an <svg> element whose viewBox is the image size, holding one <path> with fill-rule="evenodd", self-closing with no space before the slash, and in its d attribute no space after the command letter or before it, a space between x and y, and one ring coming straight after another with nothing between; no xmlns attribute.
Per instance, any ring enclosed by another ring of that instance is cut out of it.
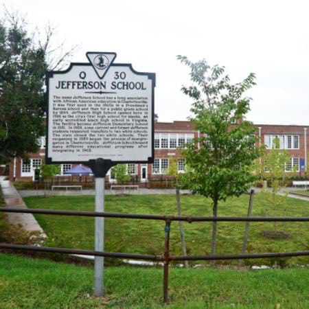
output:
<svg viewBox="0 0 309 309"><path fill-rule="evenodd" d="M146 214L122 214L112 212L95 211L73 211L55 209L27 209L0 207L2 212L15 212L23 214L50 214L60 216L84 216L84 217L104 217L104 218L124 218L124 219L144 219L163 221L186 221L186 222L309 222L309 217L190 217L190 216L159 216Z"/></svg>

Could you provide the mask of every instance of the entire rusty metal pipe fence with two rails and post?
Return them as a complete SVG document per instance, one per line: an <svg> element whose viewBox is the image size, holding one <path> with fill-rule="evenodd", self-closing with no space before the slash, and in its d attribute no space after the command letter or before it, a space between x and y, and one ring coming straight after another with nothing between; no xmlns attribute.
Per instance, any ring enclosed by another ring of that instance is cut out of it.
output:
<svg viewBox="0 0 309 309"><path fill-rule="evenodd" d="M158 215L142 215L142 214L121 214L121 213L105 213L94 211L71 211L71 210L54 210L54 209L22 209L0 207L2 212L14 212L24 214L49 214L59 216L86 216L86 217L104 217L104 218L124 218L124 219L141 219L141 220L162 220L165 221L165 240L164 240L164 254L163 255L147 255L147 254L133 254L120 252L102 252L89 251L80 249L67 249L56 247L36 247L22 244L0 244L0 249L10 250L25 250L37 251L47 253L65 253L65 254L80 254L80 255L94 255L105 258L128 258L133 260L151 260L157 262L164 262L163 268L163 301L168 302L168 267L170 261L184 261L184 260L239 260L239 259L258 259L258 258L284 258L295 256L309 256L309 251L297 252L277 252L277 253L252 253L252 254L230 254L230 255L170 255L170 226L172 221L185 222L309 222L309 217L191 217L191 216L158 216Z"/></svg>

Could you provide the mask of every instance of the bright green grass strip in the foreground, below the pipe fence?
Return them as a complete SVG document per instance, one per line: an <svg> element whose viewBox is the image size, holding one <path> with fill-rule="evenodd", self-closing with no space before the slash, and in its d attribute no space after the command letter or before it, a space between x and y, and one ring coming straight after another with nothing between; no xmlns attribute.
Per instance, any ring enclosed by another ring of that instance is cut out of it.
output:
<svg viewBox="0 0 309 309"><path fill-rule="evenodd" d="M0 254L0 308L164 308L161 268L107 267L94 298L93 267ZM166 308L309 308L309 269L170 269Z"/></svg>

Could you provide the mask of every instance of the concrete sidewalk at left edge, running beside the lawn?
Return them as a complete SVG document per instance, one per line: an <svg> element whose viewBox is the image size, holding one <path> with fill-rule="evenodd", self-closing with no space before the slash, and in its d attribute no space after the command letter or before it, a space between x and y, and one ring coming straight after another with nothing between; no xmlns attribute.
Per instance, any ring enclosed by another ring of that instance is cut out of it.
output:
<svg viewBox="0 0 309 309"><path fill-rule="evenodd" d="M6 207L27 208L19 192L10 181L0 176L0 185ZM22 225L26 231L40 231L41 236L47 237L43 229L32 214L8 213L8 222L11 225Z"/></svg>

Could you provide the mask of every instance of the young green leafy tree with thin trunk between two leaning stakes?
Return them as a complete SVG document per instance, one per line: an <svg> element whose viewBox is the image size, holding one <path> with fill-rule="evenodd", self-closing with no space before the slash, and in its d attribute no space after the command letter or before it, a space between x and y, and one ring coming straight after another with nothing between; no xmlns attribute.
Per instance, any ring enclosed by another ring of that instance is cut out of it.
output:
<svg viewBox="0 0 309 309"><path fill-rule="evenodd" d="M177 58L191 70L194 84L181 90L194 100L190 120L199 132L194 143L183 150L189 168L182 181L212 199L213 216L217 217L219 201L247 192L257 179L251 165L261 150L255 147L255 129L245 119L251 98L244 96L255 84L255 75L250 73L242 82L231 84L225 67L210 67L205 60L191 62L185 56ZM216 254L216 227L213 222L212 255Z"/></svg>

